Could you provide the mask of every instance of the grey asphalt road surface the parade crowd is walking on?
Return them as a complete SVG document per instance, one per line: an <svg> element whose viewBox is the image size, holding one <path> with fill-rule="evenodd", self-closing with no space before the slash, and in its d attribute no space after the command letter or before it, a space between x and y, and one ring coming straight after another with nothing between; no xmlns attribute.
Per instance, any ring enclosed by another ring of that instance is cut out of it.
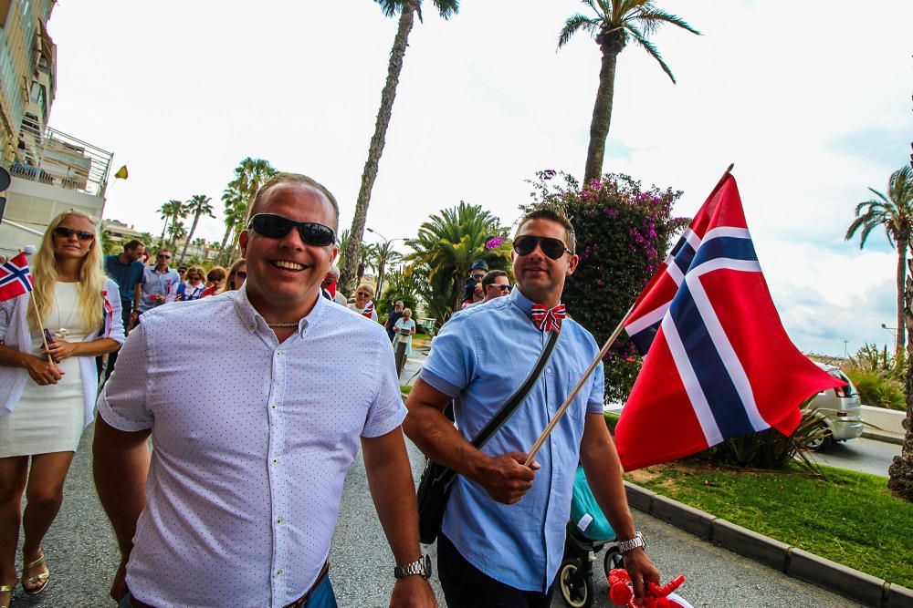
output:
<svg viewBox="0 0 913 608"><path fill-rule="evenodd" d="M47 590L27 597L18 587L16 608L96 608L115 604L108 598L110 576L118 563L117 547L91 481L91 428L83 437L67 480L63 509L47 535L44 549L52 572ZM416 477L421 455L409 444ZM680 589L696 607L720 606L856 606L832 593L795 581L782 572L751 562L730 551L677 531L665 522L635 513L650 542L650 555L664 582L684 573ZM433 548L432 548L433 552ZM601 555L596 565L597 606L608 606ZM356 459L346 479L340 520L331 551L331 579L341 606L386 606L393 586L393 557ZM201 564L205 567L205 564ZM441 602L443 594L434 581ZM226 602L226 605L230 605ZM556 600L555 606L564 605Z"/></svg>

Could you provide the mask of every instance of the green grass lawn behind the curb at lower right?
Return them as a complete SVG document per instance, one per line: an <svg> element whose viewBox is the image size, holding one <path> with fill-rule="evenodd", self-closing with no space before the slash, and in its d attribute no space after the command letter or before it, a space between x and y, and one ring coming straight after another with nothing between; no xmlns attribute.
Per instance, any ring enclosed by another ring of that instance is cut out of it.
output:
<svg viewBox="0 0 913 608"><path fill-rule="evenodd" d="M884 478L831 467L822 470L825 479L687 461L649 467L626 478L749 530L913 589L913 504L891 496Z"/></svg>

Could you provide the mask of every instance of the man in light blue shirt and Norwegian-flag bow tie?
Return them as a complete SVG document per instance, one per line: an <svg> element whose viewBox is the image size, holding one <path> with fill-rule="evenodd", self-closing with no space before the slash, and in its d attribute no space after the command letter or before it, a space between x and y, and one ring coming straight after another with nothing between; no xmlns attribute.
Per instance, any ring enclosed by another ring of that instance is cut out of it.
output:
<svg viewBox="0 0 913 608"><path fill-rule="evenodd" d="M406 403L404 430L431 459L459 475L438 537L438 573L450 608L551 605L561 563L578 460L624 551L642 596L659 582L635 534L622 468L603 420L603 367L572 402L530 467L530 448L599 347L581 325L563 318L561 291L578 257L571 222L540 208L519 222L513 271L517 288L455 314L435 338ZM540 310L540 322L533 311ZM548 339L561 333L529 397L481 450L469 441L529 375ZM455 428L442 411L456 399Z"/></svg>

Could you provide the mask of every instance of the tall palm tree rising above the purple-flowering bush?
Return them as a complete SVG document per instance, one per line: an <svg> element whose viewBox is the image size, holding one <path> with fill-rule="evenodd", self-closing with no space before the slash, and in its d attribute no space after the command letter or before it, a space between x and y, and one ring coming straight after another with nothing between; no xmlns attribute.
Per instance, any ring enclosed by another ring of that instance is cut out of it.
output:
<svg viewBox="0 0 913 608"><path fill-rule="evenodd" d="M644 47L644 50L656 59L672 82L676 77L666 66L659 55L659 50L649 36L664 23L678 26L692 34L700 35L695 28L687 25L684 19L670 15L656 8L652 0L582 0L590 7L595 16L573 15L561 28L558 36L558 48L568 43L575 33L583 30L593 36L603 52L603 65L599 70L599 88L596 89L596 102L593 104L593 119L590 121L590 145L586 150L586 169L583 172L583 184L598 180L603 174L603 153L605 139L609 135L609 123L612 120L612 102L615 88L615 64L618 54L627 45L628 38Z"/></svg>

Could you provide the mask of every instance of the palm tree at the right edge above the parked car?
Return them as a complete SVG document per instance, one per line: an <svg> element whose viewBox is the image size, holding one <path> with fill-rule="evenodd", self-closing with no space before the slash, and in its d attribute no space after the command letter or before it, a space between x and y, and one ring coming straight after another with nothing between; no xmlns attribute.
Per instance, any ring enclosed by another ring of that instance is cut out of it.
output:
<svg viewBox="0 0 913 608"><path fill-rule="evenodd" d="M897 248L897 352L904 347L907 334L904 318L904 289L907 285L907 250L913 235L913 169L905 166L891 173L887 181L887 196L869 188L877 199L860 202L855 207L855 220L846 230L847 241L859 232L859 249L866 246L868 235L884 227L887 241Z"/></svg>

